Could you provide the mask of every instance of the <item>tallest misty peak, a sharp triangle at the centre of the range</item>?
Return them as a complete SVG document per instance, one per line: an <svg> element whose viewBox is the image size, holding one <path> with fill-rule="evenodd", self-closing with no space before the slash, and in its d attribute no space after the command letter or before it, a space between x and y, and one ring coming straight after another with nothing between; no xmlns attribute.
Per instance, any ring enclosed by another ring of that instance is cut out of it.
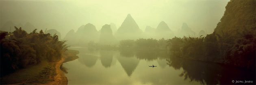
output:
<svg viewBox="0 0 256 85"><path fill-rule="evenodd" d="M137 39L141 37L142 31L139 26L132 18L130 14L127 15L124 22L121 24L120 28L117 30L115 36L118 40L121 39Z"/></svg>

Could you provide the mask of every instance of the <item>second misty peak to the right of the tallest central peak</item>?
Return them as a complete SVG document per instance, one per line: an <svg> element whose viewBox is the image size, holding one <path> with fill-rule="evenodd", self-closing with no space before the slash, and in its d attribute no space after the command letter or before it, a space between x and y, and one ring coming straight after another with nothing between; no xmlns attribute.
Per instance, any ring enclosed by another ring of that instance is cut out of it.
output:
<svg viewBox="0 0 256 85"><path fill-rule="evenodd" d="M172 38L174 36L174 33L171 31L171 29L168 27L168 25L161 21L157 28L156 28L156 38Z"/></svg>

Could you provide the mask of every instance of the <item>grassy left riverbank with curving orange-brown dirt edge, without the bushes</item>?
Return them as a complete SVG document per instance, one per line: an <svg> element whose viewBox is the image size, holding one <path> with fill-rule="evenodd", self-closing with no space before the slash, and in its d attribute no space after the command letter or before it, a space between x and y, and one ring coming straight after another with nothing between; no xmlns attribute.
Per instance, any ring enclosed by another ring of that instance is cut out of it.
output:
<svg viewBox="0 0 256 85"><path fill-rule="evenodd" d="M67 85L67 77L61 71L63 62L69 62L78 58L78 51L67 50L58 62L42 61L41 63L1 77L1 84L20 85Z"/></svg>

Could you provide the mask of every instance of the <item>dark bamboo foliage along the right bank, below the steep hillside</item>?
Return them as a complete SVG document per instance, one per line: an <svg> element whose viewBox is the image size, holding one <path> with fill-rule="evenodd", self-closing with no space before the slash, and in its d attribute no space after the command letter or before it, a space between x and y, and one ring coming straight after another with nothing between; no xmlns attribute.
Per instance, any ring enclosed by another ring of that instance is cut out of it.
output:
<svg viewBox="0 0 256 85"><path fill-rule="evenodd" d="M241 39L234 41L234 44L223 43L215 34L209 34L199 38L174 37L168 42L174 56L255 68L256 38Z"/></svg>

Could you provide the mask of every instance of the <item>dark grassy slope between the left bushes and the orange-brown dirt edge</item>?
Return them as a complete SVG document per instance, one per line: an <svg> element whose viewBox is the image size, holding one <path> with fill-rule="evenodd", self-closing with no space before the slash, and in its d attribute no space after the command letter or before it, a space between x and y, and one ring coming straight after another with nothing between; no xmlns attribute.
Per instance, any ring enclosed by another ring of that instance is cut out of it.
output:
<svg viewBox="0 0 256 85"><path fill-rule="evenodd" d="M37 65L31 65L27 68L17 70L16 72L1 78L1 84L14 83L48 83L54 81L56 63L42 61Z"/></svg>

